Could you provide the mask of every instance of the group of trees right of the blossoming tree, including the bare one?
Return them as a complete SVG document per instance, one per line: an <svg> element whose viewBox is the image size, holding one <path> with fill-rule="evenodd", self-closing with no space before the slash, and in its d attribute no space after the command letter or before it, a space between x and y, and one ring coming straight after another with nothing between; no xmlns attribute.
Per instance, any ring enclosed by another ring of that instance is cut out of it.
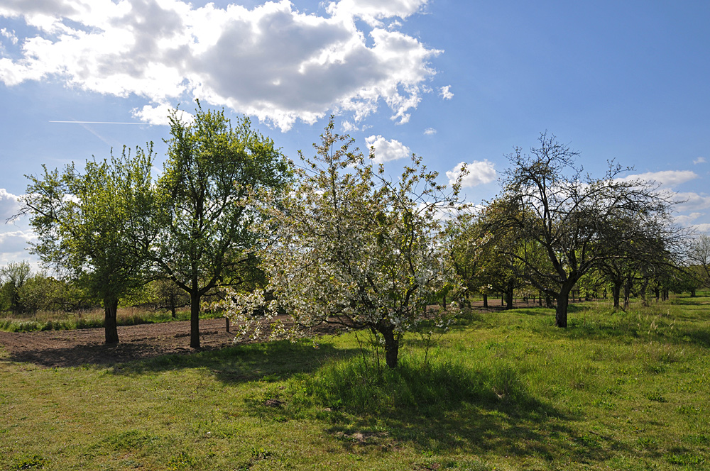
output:
<svg viewBox="0 0 710 471"><path fill-rule="evenodd" d="M508 155L500 196L449 221L450 256L469 294L503 293L509 307L516 289L547 306L554 299L555 323L566 327L575 289L608 289L620 309L631 292L646 302L649 292L665 299L710 287L709 239L674 225L672 195L621 178L631 169L614 162L602 177L585 174L577 156L543 133L530 153Z"/></svg>

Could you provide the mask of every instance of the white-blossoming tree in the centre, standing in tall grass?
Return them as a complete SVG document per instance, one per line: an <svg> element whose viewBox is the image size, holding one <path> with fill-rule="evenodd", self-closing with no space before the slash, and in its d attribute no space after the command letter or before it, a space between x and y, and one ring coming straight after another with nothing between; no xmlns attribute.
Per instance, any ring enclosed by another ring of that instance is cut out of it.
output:
<svg viewBox="0 0 710 471"><path fill-rule="evenodd" d="M459 203L459 184L445 193L419 157L391 182L333 127L331 119L317 157L304 159L298 184L270 213L275 242L259 253L266 289L232 293L226 306L243 326L267 306L265 316L285 311L301 328L367 329L394 368L404 333L443 289L457 289L437 214Z"/></svg>

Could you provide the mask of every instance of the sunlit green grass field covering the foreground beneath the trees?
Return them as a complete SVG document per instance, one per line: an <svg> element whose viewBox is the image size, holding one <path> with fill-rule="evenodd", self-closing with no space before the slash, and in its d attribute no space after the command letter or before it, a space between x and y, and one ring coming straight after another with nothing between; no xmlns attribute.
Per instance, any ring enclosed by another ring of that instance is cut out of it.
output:
<svg viewBox="0 0 710 471"><path fill-rule="evenodd" d="M710 469L709 297L553 322L471 314L427 362L410 336L381 375L351 334L110 367L1 360L0 467Z"/></svg>

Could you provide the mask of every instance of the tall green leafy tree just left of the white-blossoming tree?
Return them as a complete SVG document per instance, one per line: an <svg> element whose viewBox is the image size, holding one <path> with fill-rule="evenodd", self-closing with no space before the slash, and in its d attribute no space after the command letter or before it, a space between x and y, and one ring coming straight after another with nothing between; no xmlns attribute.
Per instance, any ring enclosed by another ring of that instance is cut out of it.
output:
<svg viewBox="0 0 710 471"><path fill-rule="evenodd" d="M200 300L251 264L258 195L283 189L290 170L248 118L232 126L224 111L198 107L192 123L173 113L170 136L153 221L160 237L146 248L158 273L190 295L190 346L200 348Z"/></svg>

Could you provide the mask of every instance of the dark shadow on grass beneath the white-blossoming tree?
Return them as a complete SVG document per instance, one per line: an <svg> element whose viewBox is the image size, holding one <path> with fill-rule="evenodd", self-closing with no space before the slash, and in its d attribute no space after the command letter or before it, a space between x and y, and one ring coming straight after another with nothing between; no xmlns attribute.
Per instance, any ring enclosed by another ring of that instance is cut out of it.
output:
<svg viewBox="0 0 710 471"><path fill-rule="evenodd" d="M345 371L342 381L326 365L312 377L297 378L297 387L291 382L283 391L248 399L247 411L266 421L320 420L351 451L407 442L422 452L599 462L623 448L613 438L579 433L573 416L532 397L511 371L451 366L422 372L400 365L357 391L347 382L354 375Z"/></svg>

